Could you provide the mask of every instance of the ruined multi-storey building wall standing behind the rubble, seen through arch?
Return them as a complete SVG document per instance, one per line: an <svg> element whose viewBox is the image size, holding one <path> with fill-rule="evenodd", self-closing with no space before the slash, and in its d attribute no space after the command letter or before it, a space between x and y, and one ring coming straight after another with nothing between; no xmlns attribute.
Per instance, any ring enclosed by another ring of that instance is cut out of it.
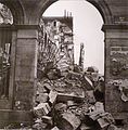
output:
<svg viewBox="0 0 128 130"><path fill-rule="evenodd" d="M39 69L53 64L53 67L65 70L73 65L73 17L41 17L38 51Z"/></svg>

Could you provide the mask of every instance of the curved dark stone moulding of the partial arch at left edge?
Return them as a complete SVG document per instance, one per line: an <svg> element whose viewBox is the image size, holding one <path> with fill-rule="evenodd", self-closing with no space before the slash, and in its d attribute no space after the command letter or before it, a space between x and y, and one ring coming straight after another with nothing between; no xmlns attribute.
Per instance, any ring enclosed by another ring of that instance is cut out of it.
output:
<svg viewBox="0 0 128 130"><path fill-rule="evenodd" d="M13 24L24 24L24 10L18 0L0 0L0 3L7 5L13 15Z"/></svg>

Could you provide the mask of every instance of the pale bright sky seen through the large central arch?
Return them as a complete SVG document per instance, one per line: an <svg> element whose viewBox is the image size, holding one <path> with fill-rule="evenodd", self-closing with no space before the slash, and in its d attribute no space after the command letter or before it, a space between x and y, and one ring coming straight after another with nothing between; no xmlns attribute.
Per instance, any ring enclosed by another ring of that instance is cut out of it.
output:
<svg viewBox="0 0 128 130"><path fill-rule="evenodd" d="M100 12L86 0L59 0L46 10L43 16L64 16L64 10L72 12L74 17L75 63L78 64L80 42L84 42L85 67L95 66L104 74L104 34Z"/></svg>

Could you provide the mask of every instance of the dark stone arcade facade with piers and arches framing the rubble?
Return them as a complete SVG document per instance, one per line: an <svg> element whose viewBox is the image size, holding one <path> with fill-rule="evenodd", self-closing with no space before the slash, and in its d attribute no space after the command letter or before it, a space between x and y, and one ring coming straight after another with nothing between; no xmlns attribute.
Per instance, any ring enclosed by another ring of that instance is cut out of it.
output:
<svg viewBox="0 0 128 130"><path fill-rule="evenodd" d="M12 44L8 98L0 99L2 129L10 123L33 120L30 109L37 78L39 20L56 1L0 0L13 15L13 25L0 25L0 46ZM128 123L128 0L86 1L98 9L104 22L105 110L119 122Z"/></svg>

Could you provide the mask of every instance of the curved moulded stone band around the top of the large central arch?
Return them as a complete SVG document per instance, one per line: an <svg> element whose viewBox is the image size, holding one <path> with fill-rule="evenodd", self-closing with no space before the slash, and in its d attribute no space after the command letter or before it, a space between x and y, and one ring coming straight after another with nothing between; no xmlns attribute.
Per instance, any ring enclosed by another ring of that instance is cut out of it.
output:
<svg viewBox="0 0 128 130"><path fill-rule="evenodd" d="M43 14L43 12L54 2L56 2L59 0L46 0L46 2L41 1L40 5L42 4L40 12L39 12L39 17L38 21L40 20L41 15ZM102 18L104 21L104 24L113 24L113 18L112 18L112 13L111 10L107 5L107 3L102 0L102 1L98 1L98 0L86 0L88 2L90 2L92 5L94 5L98 11L100 12L100 14L102 15Z"/></svg>

